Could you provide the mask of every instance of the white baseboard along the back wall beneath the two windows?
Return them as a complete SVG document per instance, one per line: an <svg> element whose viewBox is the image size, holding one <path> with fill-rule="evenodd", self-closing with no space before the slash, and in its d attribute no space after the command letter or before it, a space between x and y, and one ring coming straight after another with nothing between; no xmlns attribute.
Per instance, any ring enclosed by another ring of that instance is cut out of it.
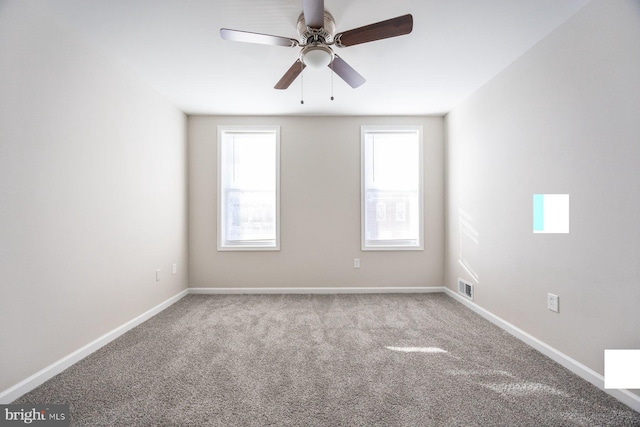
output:
<svg viewBox="0 0 640 427"><path fill-rule="evenodd" d="M189 294L427 294L444 292L434 287L373 287L373 288L189 288Z"/></svg>

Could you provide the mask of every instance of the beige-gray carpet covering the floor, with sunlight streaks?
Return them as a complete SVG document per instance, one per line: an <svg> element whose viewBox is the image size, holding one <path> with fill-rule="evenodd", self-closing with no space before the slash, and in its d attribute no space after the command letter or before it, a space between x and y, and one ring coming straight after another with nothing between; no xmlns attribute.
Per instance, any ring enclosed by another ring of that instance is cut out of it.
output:
<svg viewBox="0 0 640 427"><path fill-rule="evenodd" d="M190 295L15 403L87 426L640 426L444 294Z"/></svg>

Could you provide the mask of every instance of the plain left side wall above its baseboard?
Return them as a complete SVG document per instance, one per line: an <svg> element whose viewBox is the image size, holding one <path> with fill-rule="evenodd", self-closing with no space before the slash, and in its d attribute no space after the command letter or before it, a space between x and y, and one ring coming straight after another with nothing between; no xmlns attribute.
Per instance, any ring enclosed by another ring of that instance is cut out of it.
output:
<svg viewBox="0 0 640 427"><path fill-rule="evenodd" d="M186 288L186 117L115 64L0 5L0 391Z"/></svg>

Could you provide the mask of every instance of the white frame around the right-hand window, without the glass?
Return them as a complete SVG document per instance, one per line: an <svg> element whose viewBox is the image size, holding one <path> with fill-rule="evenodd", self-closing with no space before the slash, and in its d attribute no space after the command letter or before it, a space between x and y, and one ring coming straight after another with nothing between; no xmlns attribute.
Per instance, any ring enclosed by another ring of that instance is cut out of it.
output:
<svg viewBox="0 0 640 427"><path fill-rule="evenodd" d="M366 238L366 135L372 133L417 133L418 136L418 242L402 244L402 240L388 240L372 245ZM415 126L361 126L360 128L360 248L362 251L422 251L424 250L424 138L423 127Z"/></svg>

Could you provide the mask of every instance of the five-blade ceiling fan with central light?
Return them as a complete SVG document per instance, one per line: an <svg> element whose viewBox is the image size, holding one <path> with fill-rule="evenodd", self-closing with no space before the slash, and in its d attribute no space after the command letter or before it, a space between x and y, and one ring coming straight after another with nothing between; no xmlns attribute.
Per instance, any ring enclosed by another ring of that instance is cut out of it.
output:
<svg viewBox="0 0 640 427"><path fill-rule="evenodd" d="M228 28L221 28L220 36L237 42L301 47L300 57L276 83L275 89L287 89L307 65L317 68L328 66L349 86L357 88L366 80L335 54L332 46L342 48L402 36L412 29L413 17L408 14L336 34L335 21L324 9L324 0L302 0L302 13L297 24L299 40Z"/></svg>

